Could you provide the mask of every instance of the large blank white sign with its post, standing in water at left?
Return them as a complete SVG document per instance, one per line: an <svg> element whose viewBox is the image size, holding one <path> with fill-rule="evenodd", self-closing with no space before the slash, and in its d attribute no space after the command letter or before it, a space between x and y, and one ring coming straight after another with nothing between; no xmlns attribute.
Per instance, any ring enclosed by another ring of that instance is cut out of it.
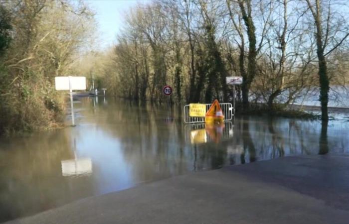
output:
<svg viewBox="0 0 349 224"><path fill-rule="evenodd" d="M73 90L86 90L86 77L83 76L57 76L54 78L56 90L69 90L72 126L75 126Z"/></svg>

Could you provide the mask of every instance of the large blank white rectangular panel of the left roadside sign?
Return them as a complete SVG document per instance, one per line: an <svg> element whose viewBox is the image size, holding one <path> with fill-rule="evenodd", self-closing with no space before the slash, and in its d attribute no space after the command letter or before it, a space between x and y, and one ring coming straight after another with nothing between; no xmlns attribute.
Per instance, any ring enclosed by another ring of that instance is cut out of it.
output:
<svg viewBox="0 0 349 224"><path fill-rule="evenodd" d="M86 77L84 76L57 76L54 78L56 90L86 90Z"/></svg>

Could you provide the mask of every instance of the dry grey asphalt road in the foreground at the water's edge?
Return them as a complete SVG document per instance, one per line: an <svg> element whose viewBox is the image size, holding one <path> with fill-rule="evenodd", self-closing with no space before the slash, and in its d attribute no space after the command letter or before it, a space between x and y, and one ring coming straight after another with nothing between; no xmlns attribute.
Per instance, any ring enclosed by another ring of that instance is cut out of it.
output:
<svg viewBox="0 0 349 224"><path fill-rule="evenodd" d="M86 198L10 224L349 224L349 157L284 157Z"/></svg>

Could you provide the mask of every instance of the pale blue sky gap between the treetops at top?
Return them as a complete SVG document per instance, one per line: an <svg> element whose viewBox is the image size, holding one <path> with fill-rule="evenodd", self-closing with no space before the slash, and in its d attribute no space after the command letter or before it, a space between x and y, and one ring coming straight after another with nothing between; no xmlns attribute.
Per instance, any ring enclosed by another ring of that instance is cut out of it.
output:
<svg viewBox="0 0 349 224"><path fill-rule="evenodd" d="M123 17L138 2L151 0L85 0L96 12L98 22L99 49L102 50L115 43L115 37L123 25Z"/></svg>

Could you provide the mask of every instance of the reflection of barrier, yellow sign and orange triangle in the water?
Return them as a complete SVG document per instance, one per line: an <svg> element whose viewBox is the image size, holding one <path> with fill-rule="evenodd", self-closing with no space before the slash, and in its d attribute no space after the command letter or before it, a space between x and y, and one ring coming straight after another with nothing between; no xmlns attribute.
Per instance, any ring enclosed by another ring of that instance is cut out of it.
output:
<svg viewBox="0 0 349 224"><path fill-rule="evenodd" d="M205 123L188 124L184 126L185 142L201 144L219 142L233 136L233 123L224 122L224 125L206 125Z"/></svg>

